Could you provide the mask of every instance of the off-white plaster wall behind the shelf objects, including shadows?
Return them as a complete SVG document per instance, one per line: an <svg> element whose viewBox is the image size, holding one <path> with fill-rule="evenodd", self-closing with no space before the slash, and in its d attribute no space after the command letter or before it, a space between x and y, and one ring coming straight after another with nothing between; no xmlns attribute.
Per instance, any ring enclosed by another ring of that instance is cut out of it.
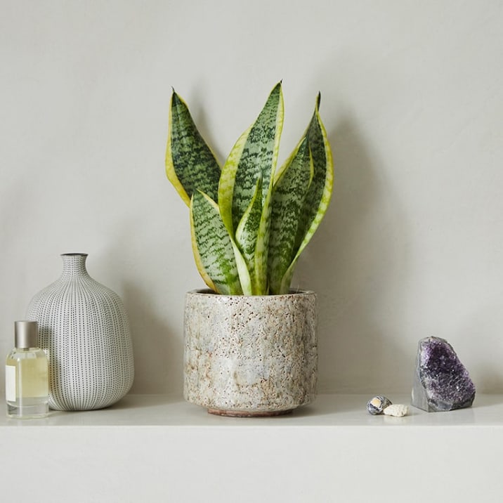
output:
<svg viewBox="0 0 503 503"><path fill-rule="evenodd" d="M318 91L334 151L295 277L319 294L320 391L408 391L430 335L502 391L502 26L499 0L0 0L0 353L86 252L129 312L133 391L181 393L203 283L164 174L171 86L223 160L283 79L280 161Z"/></svg>

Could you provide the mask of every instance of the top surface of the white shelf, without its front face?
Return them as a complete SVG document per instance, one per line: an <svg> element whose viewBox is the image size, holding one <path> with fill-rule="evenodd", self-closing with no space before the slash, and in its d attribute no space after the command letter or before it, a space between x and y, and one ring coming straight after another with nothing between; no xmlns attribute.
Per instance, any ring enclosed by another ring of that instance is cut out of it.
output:
<svg viewBox="0 0 503 503"><path fill-rule="evenodd" d="M292 414L270 418L234 418L208 414L183 398L167 395L128 395L119 403L102 410L85 412L51 411L49 417L34 420L9 419L5 405L0 410L3 426L494 426L503 428L503 395L479 395L473 407L451 412L428 413L409 407L406 417L372 416L365 406L367 395L320 395L311 405L299 407ZM391 396L393 403L410 403L405 395Z"/></svg>

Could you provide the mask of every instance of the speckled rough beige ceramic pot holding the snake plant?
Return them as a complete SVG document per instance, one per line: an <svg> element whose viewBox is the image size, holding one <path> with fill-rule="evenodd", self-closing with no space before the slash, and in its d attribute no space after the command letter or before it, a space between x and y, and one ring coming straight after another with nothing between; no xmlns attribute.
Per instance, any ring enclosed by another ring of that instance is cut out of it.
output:
<svg viewBox="0 0 503 503"><path fill-rule="evenodd" d="M270 416L315 398L316 295L185 297L183 394L212 414Z"/></svg>

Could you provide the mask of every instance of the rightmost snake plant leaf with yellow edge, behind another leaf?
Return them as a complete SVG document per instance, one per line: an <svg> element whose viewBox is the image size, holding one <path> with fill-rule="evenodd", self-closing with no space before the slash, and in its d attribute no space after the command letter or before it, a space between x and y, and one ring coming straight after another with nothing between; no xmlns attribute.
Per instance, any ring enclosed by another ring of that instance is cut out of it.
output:
<svg viewBox="0 0 503 503"><path fill-rule="evenodd" d="M281 281L277 277L274 277L274 280L271 281L274 285L271 288L271 293L285 294L289 292L289 285L292 281L296 261L299 259L303 249L306 248L311 237L313 237L315 230L320 226L320 222L323 216L325 216L332 196L334 180L332 151L328 142L327 131L325 131L325 126L320 117L320 94L318 94L316 99L315 111L306 130L306 138L308 139L313 162L313 176L311 183L308 185L306 195L303 199L303 207L299 214L291 263ZM285 178L285 176L281 173L280 178L277 179L277 183L280 183L282 178ZM282 183L285 183L285 181ZM277 223L273 225L277 225ZM273 254L273 257L275 254ZM273 266L274 261L277 261L277 259L273 258L270 261L270 274L273 274L273 270L275 269L275 266ZM282 268L284 268L284 263L282 263Z"/></svg>

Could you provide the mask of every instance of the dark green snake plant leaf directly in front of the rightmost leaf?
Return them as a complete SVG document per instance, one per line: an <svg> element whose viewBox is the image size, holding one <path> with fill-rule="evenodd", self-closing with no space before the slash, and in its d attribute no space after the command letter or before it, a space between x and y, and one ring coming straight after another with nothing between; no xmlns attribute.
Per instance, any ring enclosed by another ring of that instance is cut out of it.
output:
<svg viewBox="0 0 503 503"><path fill-rule="evenodd" d="M283 280L297 251L296 237L313 180L313 170L308 136L304 136L282 166L274 185L268 254L271 294L288 292L289 281L288 285L283 285Z"/></svg>

